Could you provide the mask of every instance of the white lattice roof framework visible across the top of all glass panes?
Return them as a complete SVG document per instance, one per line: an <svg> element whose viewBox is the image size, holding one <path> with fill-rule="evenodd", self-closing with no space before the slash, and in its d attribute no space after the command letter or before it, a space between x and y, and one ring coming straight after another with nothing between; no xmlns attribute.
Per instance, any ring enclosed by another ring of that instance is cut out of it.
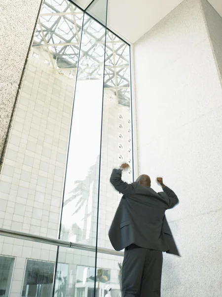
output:
<svg viewBox="0 0 222 297"><path fill-rule="evenodd" d="M33 47L47 51L49 62L55 70L68 71L70 75L72 70L76 71L82 22L83 11L69 0L44 1ZM98 63L104 56L105 33L95 27L91 17L84 20L84 33L88 36L84 48L81 48L84 71L87 71L88 79L97 79ZM96 54L90 37L96 43ZM112 90L119 104L125 106L130 106L129 60L129 45L107 29L104 87Z"/></svg>

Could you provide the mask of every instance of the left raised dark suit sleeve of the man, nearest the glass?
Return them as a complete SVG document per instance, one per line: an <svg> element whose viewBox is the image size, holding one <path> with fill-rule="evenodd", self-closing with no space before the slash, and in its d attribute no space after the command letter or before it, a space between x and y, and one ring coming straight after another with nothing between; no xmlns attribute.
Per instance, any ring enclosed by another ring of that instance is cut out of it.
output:
<svg viewBox="0 0 222 297"><path fill-rule="evenodd" d="M134 193L135 186L133 184L127 184L122 181L122 170L121 169L113 169L110 182L112 186L118 192L123 195L130 196Z"/></svg>

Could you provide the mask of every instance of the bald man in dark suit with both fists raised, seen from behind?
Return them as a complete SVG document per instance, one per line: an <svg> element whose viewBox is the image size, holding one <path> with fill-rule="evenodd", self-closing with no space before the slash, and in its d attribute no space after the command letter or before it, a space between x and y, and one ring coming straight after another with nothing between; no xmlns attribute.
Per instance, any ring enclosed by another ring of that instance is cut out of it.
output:
<svg viewBox="0 0 222 297"><path fill-rule="evenodd" d="M111 184L123 194L109 231L115 250L125 248L122 265L122 297L160 297L162 252L180 255L174 242L165 211L178 202L176 194L157 182L164 192L150 188L148 175L141 175L136 182L122 181L122 170L113 169Z"/></svg>

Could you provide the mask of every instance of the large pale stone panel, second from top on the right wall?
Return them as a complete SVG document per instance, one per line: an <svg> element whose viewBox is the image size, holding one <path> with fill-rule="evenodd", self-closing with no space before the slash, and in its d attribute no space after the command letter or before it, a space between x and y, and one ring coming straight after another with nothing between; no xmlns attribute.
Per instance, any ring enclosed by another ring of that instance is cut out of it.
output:
<svg viewBox="0 0 222 297"><path fill-rule="evenodd" d="M220 80L208 39L147 79L151 59L142 61L137 57L136 65L137 113L144 118L144 124L139 123L138 140L143 144L151 143L222 103ZM141 67L142 63L145 68Z"/></svg>

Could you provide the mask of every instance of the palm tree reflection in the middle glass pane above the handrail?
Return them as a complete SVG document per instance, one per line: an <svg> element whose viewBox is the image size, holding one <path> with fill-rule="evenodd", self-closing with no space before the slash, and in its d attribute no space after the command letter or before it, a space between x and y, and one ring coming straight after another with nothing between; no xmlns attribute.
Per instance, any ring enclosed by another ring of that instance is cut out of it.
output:
<svg viewBox="0 0 222 297"><path fill-rule="evenodd" d="M64 200L61 230L63 240L93 244L92 225L93 218L97 217L99 157L89 168L84 180L74 181L69 198ZM68 224L65 223L67 221Z"/></svg>

